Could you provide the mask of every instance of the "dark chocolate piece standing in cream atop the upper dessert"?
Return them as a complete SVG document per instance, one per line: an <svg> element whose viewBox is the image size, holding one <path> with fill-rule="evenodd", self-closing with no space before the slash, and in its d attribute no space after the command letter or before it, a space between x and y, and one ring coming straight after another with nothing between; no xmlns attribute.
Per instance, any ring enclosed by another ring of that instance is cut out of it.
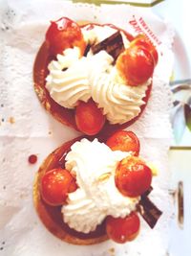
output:
<svg viewBox="0 0 191 256"><path fill-rule="evenodd" d="M109 36L96 45L93 45L91 49L94 55L96 55L101 50L104 50L114 59L117 59L119 54L124 51L122 35L118 31L117 33Z"/></svg>

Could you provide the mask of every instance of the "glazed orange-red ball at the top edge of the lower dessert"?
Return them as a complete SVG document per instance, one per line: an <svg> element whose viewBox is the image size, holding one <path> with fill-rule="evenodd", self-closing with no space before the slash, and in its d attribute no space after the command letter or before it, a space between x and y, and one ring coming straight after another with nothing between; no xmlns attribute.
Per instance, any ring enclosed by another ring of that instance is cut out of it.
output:
<svg viewBox="0 0 191 256"><path fill-rule="evenodd" d="M113 151L132 151L134 155L139 152L139 140L133 131L118 130L106 142Z"/></svg>

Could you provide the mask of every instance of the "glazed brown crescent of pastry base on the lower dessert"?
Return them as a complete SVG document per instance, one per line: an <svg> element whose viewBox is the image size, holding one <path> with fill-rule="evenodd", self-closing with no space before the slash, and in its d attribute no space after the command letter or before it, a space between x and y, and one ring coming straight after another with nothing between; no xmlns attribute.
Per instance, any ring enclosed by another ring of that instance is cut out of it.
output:
<svg viewBox="0 0 191 256"><path fill-rule="evenodd" d="M96 230L93 232L88 234L77 232L70 228L67 223L64 223L61 206L48 205L40 195L40 183L42 176L54 168L64 167L67 152L70 151L74 142L80 139L82 139L82 137L78 137L72 141L64 143L61 147L49 154L42 163L34 179L33 203L40 220L57 238L69 244L98 244L108 240L104 221L102 224L97 226Z"/></svg>

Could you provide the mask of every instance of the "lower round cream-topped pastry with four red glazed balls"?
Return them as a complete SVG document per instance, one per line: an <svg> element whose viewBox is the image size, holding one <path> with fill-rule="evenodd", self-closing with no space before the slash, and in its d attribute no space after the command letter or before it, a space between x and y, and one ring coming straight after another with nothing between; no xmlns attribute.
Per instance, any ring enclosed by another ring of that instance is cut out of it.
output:
<svg viewBox="0 0 191 256"><path fill-rule="evenodd" d="M35 178L40 220L70 244L132 241L140 229L138 212L153 228L161 215L147 197L154 173L138 152L138 137L124 130L105 143L79 137L63 144Z"/></svg>

